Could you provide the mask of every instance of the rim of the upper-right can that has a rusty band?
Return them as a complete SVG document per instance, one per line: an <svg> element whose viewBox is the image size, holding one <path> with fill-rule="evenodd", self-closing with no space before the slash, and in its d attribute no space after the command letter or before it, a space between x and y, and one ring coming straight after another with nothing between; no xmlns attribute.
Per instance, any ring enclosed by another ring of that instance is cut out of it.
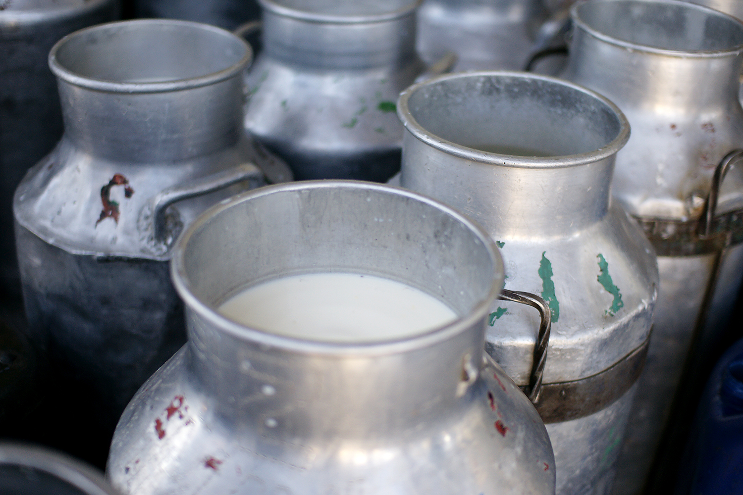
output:
<svg viewBox="0 0 743 495"><path fill-rule="evenodd" d="M743 22L741 22L739 19L736 19L733 16L730 16L727 13L721 12L719 10L715 10L710 7L705 7L704 5L694 4L691 1L679 1L679 0L586 0L586 1L578 1L577 3L573 4L570 7L571 19L577 27L580 27L582 30L584 30L586 33L590 34L594 38L600 39L603 42L609 43L611 45L615 45L617 47L622 47L622 48L626 48L626 49L637 51L637 52L654 53L656 55L673 56L673 57L685 58L685 59L696 59L696 58L712 59L712 58L724 58L726 56L735 56L743 51L743 43L740 45L736 45L734 47L730 47L729 49L726 49L726 50L669 50L667 48L656 48L656 47L652 47L649 45L639 45L637 43L626 42L623 39L614 38L614 36L609 36L608 34L602 33L599 30L595 30L593 27L589 26L586 22L584 22L583 19L580 19L580 16L578 15L578 9L580 9L580 7L583 7L583 5L585 4L599 4L599 3L606 4L612 1L635 1L637 3L648 3L648 4L670 4L675 7L701 10L702 12L707 13L708 15L718 16L721 18L727 18L728 20L736 24L739 24L743 30Z"/></svg>

